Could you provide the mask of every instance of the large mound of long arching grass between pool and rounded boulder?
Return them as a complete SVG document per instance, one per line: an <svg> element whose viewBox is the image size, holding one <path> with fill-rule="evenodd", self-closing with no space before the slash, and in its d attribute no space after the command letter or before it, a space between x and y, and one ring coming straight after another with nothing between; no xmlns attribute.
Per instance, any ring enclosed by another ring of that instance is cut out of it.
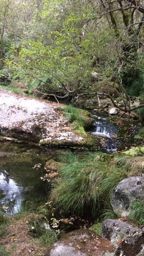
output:
<svg viewBox="0 0 144 256"><path fill-rule="evenodd" d="M144 172L144 154L109 155L85 151L63 153L66 165L59 170L50 200L54 207L80 216L98 217L110 205L110 195L122 179L139 176ZM64 160L62 160L64 159Z"/></svg>

